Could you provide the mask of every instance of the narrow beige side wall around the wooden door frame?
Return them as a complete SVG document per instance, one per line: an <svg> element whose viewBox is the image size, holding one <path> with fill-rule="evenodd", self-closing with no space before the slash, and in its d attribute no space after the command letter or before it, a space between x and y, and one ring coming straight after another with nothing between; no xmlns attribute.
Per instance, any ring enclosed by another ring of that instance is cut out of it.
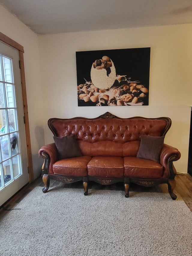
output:
<svg viewBox="0 0 192 256"><path fill-rule="evenodd" d="M24 65L29 112L34 178L41 173L38 149L44 144L42 88L38 35L0 5L0 32L24 47Z"/></svg>

